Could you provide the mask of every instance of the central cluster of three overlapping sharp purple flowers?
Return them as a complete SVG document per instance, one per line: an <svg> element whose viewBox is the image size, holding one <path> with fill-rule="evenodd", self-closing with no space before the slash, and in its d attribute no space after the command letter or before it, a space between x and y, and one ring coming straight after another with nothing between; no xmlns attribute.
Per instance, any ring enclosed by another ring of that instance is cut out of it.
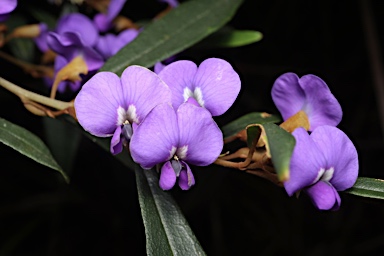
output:
<svg viewBox="0 0 384 256"><path fill-rule="evenodd" d="M113 154L129 143L133 160L144 169L160 164L162 189L171 189L177 178L189 189L195 181L188 164L206 166L220 155L223 135L212 116L231 107L240 86L232 66L217 58L199 67L176 61L158 75L130 66L121 78L110 72L93 76L75 109L85 130L112 136Z"/></svg>

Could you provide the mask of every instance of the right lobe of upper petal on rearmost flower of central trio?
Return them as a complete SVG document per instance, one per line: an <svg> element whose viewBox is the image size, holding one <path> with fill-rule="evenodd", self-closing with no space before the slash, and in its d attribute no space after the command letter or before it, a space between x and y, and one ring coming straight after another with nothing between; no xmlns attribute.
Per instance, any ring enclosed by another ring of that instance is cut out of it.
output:
<svg viewBox="0 0 384 256"><path fill-rule="evenodd" d="M239 75L227 61L210 58L203 61L193 81L197 101L201 97L203 107L213 116L224 114L235 102L240 92ZM199 89L201 95L199 95Z"/></svg>

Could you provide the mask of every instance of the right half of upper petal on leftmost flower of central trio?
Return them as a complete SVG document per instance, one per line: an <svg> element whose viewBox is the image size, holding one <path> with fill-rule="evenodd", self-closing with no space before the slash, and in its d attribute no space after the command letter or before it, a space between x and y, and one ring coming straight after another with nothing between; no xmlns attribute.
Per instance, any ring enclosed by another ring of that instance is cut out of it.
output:
<svg viewBox="0 0 384 256"><path fill-rule="evenodd" d="M141 66L129 66L121 75L128 105L135 108L135 120L140 123L157 105L171 102L168 86L152 71Z"/></svg>

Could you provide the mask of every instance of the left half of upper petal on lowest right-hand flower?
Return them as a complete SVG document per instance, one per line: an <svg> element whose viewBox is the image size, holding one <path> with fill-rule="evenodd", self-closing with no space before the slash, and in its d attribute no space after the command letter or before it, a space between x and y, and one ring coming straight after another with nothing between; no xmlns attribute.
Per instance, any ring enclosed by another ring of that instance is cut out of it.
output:
<svg viewBox="0 0 384 256"><path fill-rule="evenodd" d="M297 128L292 135L296 145L291 157L289 180L284 182L289 196L316 182L321 168L326 165L323 154L304 128Z"/></svg>

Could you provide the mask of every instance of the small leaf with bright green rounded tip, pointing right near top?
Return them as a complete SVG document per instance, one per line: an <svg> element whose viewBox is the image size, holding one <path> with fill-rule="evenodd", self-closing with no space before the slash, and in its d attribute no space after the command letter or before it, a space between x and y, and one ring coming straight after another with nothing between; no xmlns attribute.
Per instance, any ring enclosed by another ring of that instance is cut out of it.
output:
<svg viewBox="0 0 384 256"><path fill-rule="evenodd" d="M196 45L196 48L210 49L216 47L240 47L260 41L263 34L253 30L235 30L224 28L205 38Z"/></svg>

